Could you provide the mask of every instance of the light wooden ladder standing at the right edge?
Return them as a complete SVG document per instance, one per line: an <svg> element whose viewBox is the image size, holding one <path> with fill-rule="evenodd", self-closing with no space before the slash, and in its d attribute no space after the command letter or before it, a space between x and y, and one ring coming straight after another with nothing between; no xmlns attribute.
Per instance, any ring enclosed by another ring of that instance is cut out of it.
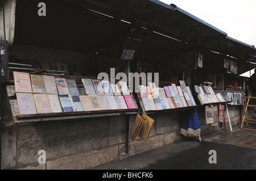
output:
<svg viewBox="0 0 256 181"><path fill-rule="evenodd" d="M246 104L245 104L245 100L244 100L244 99L247 99ZM243 110L245 111L245 115L243 115L243 120L242 120L241 129L249 129L249 130L254 130L254 131L256 131L256 127L249 127L249 125L248 125L248 123L256 124L256 119L249 119L249 118L247 118L247 115L246 115L246 112L247 112L247 108L248 108L248 107L256 108L256 105L249 104L250 99L256 99L256 97L242 96ZM243 128L243 123L246 123L246 124L247 124L247 128Z"/></svg>

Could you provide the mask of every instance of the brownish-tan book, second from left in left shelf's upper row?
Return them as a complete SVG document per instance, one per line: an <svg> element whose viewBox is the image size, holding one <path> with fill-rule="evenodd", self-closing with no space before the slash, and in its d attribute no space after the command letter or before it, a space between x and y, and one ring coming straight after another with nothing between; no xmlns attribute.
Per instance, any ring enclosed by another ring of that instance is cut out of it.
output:
<svg viewBox="0 0 256 181"><path fill-rule="evenodd" d="M30 78L31 78L32 92L46 94L46 86L44 86L43 75L31 74Z"/></svg>

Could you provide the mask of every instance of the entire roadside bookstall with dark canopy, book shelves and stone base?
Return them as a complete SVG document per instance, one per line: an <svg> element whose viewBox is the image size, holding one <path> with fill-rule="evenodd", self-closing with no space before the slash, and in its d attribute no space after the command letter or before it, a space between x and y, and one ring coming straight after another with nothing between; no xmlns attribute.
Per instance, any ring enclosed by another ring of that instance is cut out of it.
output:
<svg viewBox="0 0 256 181"><path fill-rule="evenodd" d="M2 169L89 169L238 124L254 47L155 0L39 3L3 6Z"/></svg>

